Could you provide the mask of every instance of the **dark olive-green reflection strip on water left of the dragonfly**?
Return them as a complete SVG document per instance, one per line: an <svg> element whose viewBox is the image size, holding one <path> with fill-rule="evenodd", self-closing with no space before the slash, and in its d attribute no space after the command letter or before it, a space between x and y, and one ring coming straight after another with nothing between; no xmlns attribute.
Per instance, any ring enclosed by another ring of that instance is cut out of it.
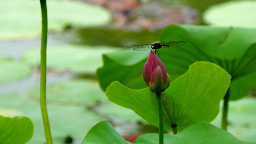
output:
<svg viewBox="0 0 256 144"><path fill-rule="evenodd" d="M92 46L127 47L152 43L159 39L161 30L156 31L125 31L107 27L71 28L63 33L56 33L54 37L68 43Z"/></svg>

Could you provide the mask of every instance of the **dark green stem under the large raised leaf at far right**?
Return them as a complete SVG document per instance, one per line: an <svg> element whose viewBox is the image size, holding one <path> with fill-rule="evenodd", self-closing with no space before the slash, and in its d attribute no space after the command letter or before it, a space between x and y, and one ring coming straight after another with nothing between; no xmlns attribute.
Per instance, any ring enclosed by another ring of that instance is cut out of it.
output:
<svg viewBox="0 0 256 144"><path fill-rule="evenodd" d="M228 125L228 102L229 102L229 89L224 96L224 105L222 111L222 129L227 130Z"/></svg>

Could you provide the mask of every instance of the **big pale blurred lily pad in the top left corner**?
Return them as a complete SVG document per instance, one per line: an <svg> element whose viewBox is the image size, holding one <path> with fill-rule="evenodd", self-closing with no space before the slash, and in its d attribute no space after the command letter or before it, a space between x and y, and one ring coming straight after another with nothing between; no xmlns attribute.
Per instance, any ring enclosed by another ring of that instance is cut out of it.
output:
<svg viewBox="0 0 256 144"><path fill-rule="evenodd" d="M97 26L110 21L111 14L103 7L80 1L47 1L48 29L60 31L71 26ZM41 10L35 0L1 0L0 39L26 39L39 36Z"/></svg>

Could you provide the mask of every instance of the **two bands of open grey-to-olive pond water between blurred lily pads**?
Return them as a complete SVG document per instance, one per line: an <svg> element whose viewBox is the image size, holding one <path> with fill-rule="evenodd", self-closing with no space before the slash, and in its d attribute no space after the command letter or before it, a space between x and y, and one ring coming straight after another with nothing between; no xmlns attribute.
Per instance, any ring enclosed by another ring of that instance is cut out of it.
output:
<svg viewBox="0 0 256 144"><path fill-rule="evenodd" d="M79 45L107 45L126 48L127 45L152 43L158 40L160 31L156 32L125 32L122 30L108 30L107 28L81 28L50 33L48 35L48 47L61 44ZM0 41L0 55L7 56L19 61L21 55L30 49L40 47L40 38L31 40ZM34 85L39 85L39 70L34 70L32 76L17 82L0 85L0 92L25 92ZM70 79L72 72L51 74L48 73L48 83L60 82ZM83 74L86 75L86 74Z"/></svg>

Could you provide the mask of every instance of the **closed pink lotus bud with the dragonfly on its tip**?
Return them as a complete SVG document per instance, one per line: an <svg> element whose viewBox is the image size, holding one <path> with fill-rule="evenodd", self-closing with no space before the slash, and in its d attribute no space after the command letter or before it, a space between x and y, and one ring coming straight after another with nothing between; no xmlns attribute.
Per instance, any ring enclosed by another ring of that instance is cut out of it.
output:
<svg viewBox="0 0 256 144"><path fill-rule="evenodd" d="M143 78L152 92L163 92L170 85L170 77L163 62L153 51L143 66Z"/></svg>

